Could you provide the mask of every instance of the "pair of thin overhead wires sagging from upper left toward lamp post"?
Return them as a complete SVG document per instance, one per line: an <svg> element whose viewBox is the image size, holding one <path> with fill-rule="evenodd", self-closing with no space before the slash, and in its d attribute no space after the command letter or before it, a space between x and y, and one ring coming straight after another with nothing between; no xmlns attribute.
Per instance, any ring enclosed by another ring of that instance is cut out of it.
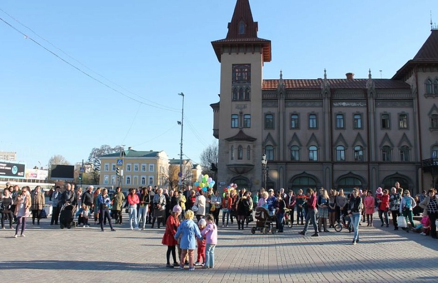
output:
<svg viewBox="0 0 438 283"><path fill-rule="evenodd" d="M72 60L75 60L75 61L78 62L79 64L81 64L81 65L83 65L84 67L86 67L87 69L89 69L91 72L93 72L93 73L99 75L100 77L104 78L104 79L107 80L108 82L111 82L112 84L117 85L118 87L120 87L121 89L123 89L123 90L125 90L125 91L127 91L127 92L129 92L129 93L131 93L131 94L133 94L133 95L136 95L136 96L140 97L141 99L151 101L152 103L157 104L157 105L159 105L159 106L152 105L152 104L149 104L149 103L145 103L145 102L143 102L143 101L140 101L140 100L138 100L138 99L136 99L136 98L133 98L133 97L131 97L131 96L129 96L129 95L126 95L126 94L124 94L124 93L122 93L122 92L116 90L114 87L108 85L107 83L102 82L101 80L99 80L99 79L93 77L92 75L88 74L87 72L85 72L85 71L82 70L81 68L79 68L79 67L75 66L74 64L68 62L67 60L65 60L64 58L62 58L61 56L59 56L58 54L56 54L55 52L53 52L52 50L50 50L50 49L48 49L47 47L45 47L44 45L40 44L38 41L32 39L32 38L29 37L27 34L25 34L24 32L20 31L19 29L17 29L16 27L14 27L12 24L10 24L10 23L7 22L6 20L4 20L2 17L0 17L0 20L1 20L2 22L4 22L6 25L8 25L8 26L11 27L12 29L14 29L16 32L22 34L22 35L24 36L25 39L29 39L29 40L31 40L31 41L32 41L33 43L35 43L36 45L38 45L38 46L40 46L41 48L45 49L45 50L48 51L50 54L52 54L53 56L57 57L59 60L61 60L61 61L63 61L64 63L68 64L69 66L71 66L71 67L77 69L79 72L81 72L81 73L84 74L85 76L89 77L90 79L93 79L93 80L95 80L96 82L98 82L98 83L100 83L100 84L102 84L102 85L108 87L109 89L113 90L114 92L116 92L116 93L118 93L118 94L120 94L120 95L122 95L122 96L124 96L124 97L126 97L126 98L128 98L128 99L131 99L131 100L133 100L133 101L135 101L135 102L138 102L138 103L140 103L140 104L148 105L148 106L150 106L150 107L158 108L158 109L161 109L161 110L166 110L166 111L171 111L171 112L179 112L178 109L170 108L170 107L167 107L166 105L162 105L162 104L159 104L159 103L154 102L154 101L152 101L152 100L149 100L149 99L147 99L147 98L141 97L141 96L139 96L139 95L137 95L137 94L135 94L135 93L133 93L133 92L131 92L131 91L128 91L128 90L124 89L122 86L118 85L117 83L114 83L114 82L112 82L111 80L108 80L107 78L105 78L104 76L102 76L102 75L100 75L100 74L94 72L92 69L88 68L87 66L85 66L84 64L82 64L81 62L79 62L78 60L72 58L72 57L69 56L66 52L64 52L64 51L61 50L60 48L54 46L52 43L50 43L50 42L47 41L46 39L40 37L40 36L39 36L36 32L34 32L31 28L29 28L29 27L23 25L22 23L20 23L19 21L17 21L16 19L14 19L14 17L12 17L12 16L9 15L8 13L6 13L4 10L2 10L2 9L0 9L0 10L1 10L2 12L4 12L5 14L7 14L8 16L10 16L10 17L11 17L14 21L16 21L17 23L21 24L22 26L24 26L24 27L26 27L27 29L29 29L30 31L32 31L34 34L36 34L37 37L39 37L39 38L43 39L44 41L48 42L49 44L51 44L53 47L55 47L55 48L57 48L58 50L60 50L61 52L63 52L65 55L67 55L67 56L68 56L69 58L71 58Z"/></svg>

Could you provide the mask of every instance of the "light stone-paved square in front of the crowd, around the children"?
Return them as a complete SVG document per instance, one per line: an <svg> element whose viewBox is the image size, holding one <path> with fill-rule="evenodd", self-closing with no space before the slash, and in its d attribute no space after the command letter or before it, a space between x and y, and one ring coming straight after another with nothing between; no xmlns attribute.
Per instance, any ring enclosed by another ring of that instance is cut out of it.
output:
<svg viewBox="0 0 438 283"><path fill-rule="evenodd" d="M20 283L438 282L438 240L380 228L379 221L375 225L360 226L360 243L352 245L353 234L345 229L303 237L299 225L285 227L283 234L252 235L234 222L219 228L215 268L189 272L165 267L163 228L131 231L124 223L115 225L116 232L102 233L95 225L61 230L45 219L40 227L28 225L26 238L0 230L0 278Z"/></svg>

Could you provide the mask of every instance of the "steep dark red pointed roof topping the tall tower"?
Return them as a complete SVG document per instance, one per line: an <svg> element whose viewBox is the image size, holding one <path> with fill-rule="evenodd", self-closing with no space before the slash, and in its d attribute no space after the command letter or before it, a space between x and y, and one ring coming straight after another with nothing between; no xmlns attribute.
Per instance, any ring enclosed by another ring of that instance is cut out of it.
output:
<svg viewBox="0 0 438 283"><path fill-rule="evenodd" d="M258 38L258 22L252 19L249 0L237 0L231 22L228 23L228 33L225 39L212 41L217 60L221 62L222 49L224 46L244 45L261 46L263 61L271 61L271 41Z"/></svg>

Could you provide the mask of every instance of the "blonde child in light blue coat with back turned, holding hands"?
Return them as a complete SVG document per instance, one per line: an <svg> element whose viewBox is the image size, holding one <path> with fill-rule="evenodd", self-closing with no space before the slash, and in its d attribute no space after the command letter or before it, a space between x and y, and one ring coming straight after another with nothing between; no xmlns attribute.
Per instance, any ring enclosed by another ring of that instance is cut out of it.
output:
<svg viewBox="0 0 438 283"><path fill-rule="evenodd" d="M184 269L184 259L186 255L189 255L189 271L195 270L194 267L194 249L196 247L195 238L202 239L198 225L193 221L194 213L192 210L187 210L184 215L186 220L182 221L179 225L174 238L180 239L181 247L181 260L179 263L179 268Z"/></svg>

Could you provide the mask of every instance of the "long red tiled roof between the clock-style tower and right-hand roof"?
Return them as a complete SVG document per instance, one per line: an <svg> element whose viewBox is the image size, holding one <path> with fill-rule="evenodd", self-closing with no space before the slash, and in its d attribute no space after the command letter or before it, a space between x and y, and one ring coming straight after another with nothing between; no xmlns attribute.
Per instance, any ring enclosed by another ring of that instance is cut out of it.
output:
<svg viewBox="0 0 438 283"><path fill-rule="evenodd" d="M368 79L327 79L332 89L366 89ZM278 88L279 80L263 80L262 89ZM322 79L286 79L283 80L286 89L320 89ZM373 79L376 89L410 89L410 85L399 80Z"/></svg>

